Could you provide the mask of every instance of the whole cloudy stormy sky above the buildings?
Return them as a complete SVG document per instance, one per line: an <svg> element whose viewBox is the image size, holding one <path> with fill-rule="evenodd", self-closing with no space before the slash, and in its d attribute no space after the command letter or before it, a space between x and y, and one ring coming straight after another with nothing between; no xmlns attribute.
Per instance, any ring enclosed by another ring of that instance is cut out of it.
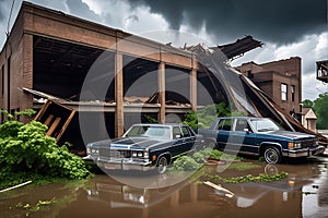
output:
<svg viewBox="0 0 328 218"><path fill-rule="evenodd" d="M315 62L328 59L328 0L30 0L85 20L168 43L167 29L190 33L208 46L251 35L265 44L232 62L302 58L303 99L328 92L316 81ZM11 26L21 5L15 0ZM0 46L5 40L12 1L0 0ZM180 41L195 44L196 41ZM183 45L177 45L183 46Z"/></svg>

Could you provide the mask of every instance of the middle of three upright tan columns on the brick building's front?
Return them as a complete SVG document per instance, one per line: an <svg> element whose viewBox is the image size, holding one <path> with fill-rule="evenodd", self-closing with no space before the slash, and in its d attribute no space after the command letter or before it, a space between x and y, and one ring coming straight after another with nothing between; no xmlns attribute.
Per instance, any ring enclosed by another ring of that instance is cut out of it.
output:
<svg viewBox="0 0 328 218"><path fill-rule="evenodd" d="M159 113L159 121L161 123L165 122L165 63L161 62L159 64L159 100L161 104L161 109Z"/></svg>

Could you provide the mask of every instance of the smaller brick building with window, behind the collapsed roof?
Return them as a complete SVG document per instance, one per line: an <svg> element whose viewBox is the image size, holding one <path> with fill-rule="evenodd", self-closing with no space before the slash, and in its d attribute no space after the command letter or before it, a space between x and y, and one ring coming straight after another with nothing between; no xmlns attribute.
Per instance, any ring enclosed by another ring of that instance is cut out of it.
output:
<svg viewBox="0 0 328 218"><path fill-rule="evenodd" d="M244 63L237 68L261 90L290 114L301 113L302 71L301 58L294 57L269 63Z"/></svg>

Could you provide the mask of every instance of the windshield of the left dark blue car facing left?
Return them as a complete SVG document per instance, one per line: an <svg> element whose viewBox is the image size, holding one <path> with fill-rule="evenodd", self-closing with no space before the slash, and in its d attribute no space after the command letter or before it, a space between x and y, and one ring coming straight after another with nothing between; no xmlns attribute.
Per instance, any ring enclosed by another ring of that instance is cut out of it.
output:
<svg viewBox="0 0 328 218"><path fill-rule="evenodd" d="M143 136L161 140L171 140L171 129L168 126L134 125L125 134L125 136Z"/></svg>

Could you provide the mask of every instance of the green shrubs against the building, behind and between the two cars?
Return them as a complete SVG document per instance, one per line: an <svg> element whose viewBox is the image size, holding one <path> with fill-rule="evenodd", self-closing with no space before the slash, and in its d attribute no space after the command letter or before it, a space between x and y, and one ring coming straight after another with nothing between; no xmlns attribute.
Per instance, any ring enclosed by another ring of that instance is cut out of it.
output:
<svg viewBox="0 0 328 218"><path fill-rule="evenodd" d="M184 124L188 124L194 130L207 129L212 125L218 117L246 116L246 112L233 110L224 102L208 105L197 112L189 111L186 113Z"/></svg>

